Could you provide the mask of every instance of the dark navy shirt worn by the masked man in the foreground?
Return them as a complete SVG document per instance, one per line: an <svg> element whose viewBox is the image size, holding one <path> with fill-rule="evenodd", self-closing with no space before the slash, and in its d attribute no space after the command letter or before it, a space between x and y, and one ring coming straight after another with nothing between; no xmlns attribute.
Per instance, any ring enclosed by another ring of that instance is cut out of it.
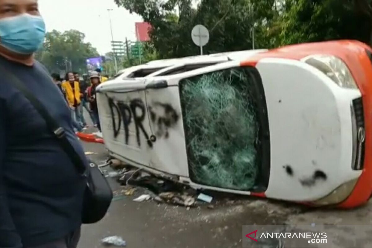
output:
<svg viewBox="0 0 372 248"><path fill-rule="evenodd" d="M65 129L87 166L71 112L46 69L0 57ZM61 239L81 225L86 180L77 173L44 119L3 77L0 84L0 247L33 247Z"/></svg>

